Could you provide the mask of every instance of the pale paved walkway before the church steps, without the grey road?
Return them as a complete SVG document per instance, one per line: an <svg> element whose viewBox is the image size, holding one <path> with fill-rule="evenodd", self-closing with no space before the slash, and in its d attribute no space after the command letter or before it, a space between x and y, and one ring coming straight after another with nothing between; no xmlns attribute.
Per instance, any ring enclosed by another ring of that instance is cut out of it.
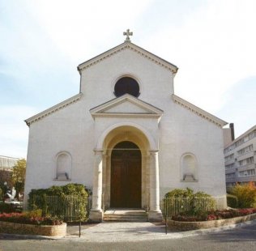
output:
<svg viewBox="0 0 256 251"><path fill-rule="evenodd" d="M67 235L61 240L86 240L90 242L168 240L189 236L206 235L211 232L220 232L249 225L252 225L256 228L256 221L241 223L237 225L230 225L222 228L211 228L186 232L168 230L168 233L165 234L165 226L164 224L160 223L106 222L92 225L83 225L80 237L78 226L68 227Z"/></svg>

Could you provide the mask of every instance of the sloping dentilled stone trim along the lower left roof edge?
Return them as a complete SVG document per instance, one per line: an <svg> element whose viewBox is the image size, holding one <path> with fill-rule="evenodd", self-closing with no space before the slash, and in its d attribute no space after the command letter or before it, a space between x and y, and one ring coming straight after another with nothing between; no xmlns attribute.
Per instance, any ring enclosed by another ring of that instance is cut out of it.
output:
<svg viewBox="0 0 256 251"><path fill-rule="evenodd" d="M70 104L74 104L77 101L79 101L81 99L81 97L83 96L83 93L79 93L75 96L70 97L67 100L62 101L59 104L54 105L51 108L46 109L45 111L36 114L33 117L29 117L28 119L25 120L26 124L28 126L30 126L32 123L36 122L36 121L40 121L41 119L43 119L44 117L47 117L49 115L51 115L52 113L56 113L59 110L61 110L62 108L66 108L67 106L69 106Z"/></svg>

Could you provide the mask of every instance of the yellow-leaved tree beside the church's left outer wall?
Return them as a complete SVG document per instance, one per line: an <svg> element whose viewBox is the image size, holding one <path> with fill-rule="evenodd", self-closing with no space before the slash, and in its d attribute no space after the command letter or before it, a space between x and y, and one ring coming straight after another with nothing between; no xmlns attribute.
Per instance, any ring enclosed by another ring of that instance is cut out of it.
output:
<svg viewBox="0 0 256 251"><path fill-rule="evenodd" d="M16 189L16 196L19 194L23 194L24 192L24 184L25 184L25 174L26 174L26 160L21 159L17 161L12 172L12 183Z"/></svg>

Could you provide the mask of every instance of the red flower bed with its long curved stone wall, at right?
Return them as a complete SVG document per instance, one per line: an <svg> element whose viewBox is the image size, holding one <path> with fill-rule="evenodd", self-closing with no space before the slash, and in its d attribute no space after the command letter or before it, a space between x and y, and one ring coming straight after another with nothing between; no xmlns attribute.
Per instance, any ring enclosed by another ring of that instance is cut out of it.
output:
<svg viewBox="0 0 256 251"><path fill-rule="evenodd" d="M236 223L256 219L256 209L211 211L203 218L202 215L176 215L168 219L169 228L188 231L202 228L219 228Z"/></svg>

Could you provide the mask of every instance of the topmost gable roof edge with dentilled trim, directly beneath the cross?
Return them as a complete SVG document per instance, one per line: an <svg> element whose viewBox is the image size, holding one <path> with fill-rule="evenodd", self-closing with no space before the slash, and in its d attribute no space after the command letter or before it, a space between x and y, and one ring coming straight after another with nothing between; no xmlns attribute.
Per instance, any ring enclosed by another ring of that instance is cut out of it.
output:
<svg viewBox="0 0 256 251"><path fill-rule="evenodd" d="M145 57L148 60L150 60L151 62L154 62L157 65L162 66L165 69L172 71L173 74L177 73L177 70L178 70L177 66L175 66L172 63L164 60L161 57L156 56L153 53L148 52L146 49L143 49L143 48L139 47L138 45L134 45L133 43L128 42L128 41L125 41L121 45L117 45L113 49L109 49L105 53L101 53L100 55L98 55L96 57L92 57L92 59L80 64L77 67L77 69L79 70L79 73L81 74L82 70L87 69L91 66L94 66L97 63L105 60L106 58L112 57L114 54L120 53L125 49L130 49L130 50L134 51L135 53L138 53L141 57Z"/></svg>

